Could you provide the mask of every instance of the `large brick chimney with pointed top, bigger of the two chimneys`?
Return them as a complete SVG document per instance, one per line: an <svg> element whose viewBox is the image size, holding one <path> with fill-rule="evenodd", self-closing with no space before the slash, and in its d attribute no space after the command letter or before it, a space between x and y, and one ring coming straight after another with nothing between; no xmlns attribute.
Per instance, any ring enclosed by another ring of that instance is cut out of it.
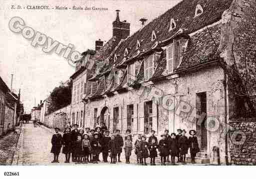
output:
<svg viewBox="0 0 256 179"><path fill-rule="evenodd" d="M116 20L113 21L113 36L116 36L117 43L130 35L130 23L120 21L119 12L120 10L116 10Z"/></svg>

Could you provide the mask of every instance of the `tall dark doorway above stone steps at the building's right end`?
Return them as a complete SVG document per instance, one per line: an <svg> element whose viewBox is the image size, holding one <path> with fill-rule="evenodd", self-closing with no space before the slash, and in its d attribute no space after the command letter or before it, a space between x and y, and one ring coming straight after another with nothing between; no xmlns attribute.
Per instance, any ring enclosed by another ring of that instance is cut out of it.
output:
<svg viewBox="0 0 256 179"><path fill-rule="evenodd" d="M199 138L199 147L201 151L207 151L207 97L206 92L197 93L196 98L197 108L197 132Z"/></svg>

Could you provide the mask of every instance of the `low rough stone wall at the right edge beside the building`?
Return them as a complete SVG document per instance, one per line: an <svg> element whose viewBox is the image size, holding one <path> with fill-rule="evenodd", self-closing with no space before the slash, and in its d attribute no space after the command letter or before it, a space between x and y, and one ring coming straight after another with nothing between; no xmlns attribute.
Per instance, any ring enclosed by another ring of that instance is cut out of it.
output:
<svg viewBox="0 0 256 179"><path fill-rule="evenodd" d="M231 164L256 165L256 119L238 119L230 135Z"/></svg>

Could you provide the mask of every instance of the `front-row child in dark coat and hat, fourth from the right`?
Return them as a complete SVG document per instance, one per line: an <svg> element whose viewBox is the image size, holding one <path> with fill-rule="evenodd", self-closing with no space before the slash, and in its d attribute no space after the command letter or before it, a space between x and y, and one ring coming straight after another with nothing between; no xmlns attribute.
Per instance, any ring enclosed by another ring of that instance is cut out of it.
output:
<svg viewBox="0 0 256 179"><path fill-rule="evenodd" d="M161 165L166 165L166 157L169 156L169 142L166 139L166 135L161 135L162 139L159 141L159 152L161 157Z"/></svg>

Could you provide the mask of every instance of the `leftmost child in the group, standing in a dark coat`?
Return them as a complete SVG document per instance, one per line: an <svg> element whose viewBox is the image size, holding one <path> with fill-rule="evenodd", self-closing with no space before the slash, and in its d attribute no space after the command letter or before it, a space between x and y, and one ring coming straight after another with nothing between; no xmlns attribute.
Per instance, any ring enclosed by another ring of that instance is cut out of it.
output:
<svg viewBox="0 0 256 179"><path fill-rule="evenodd" d="M53 161L51 163L59 163L58 157L61 149L61 142L62 142L62 137L61 134L59 134L59 128L55 128L55 133L52 135L51 138L51 153L53 153Z"/></svg>

